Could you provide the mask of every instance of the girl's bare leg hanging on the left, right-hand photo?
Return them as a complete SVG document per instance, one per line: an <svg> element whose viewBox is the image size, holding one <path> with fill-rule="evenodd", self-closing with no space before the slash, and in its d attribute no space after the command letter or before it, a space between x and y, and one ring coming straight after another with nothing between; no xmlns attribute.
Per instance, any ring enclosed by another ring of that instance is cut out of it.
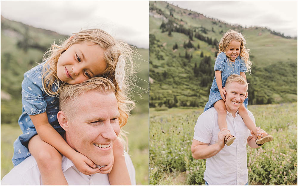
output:
<svg viewBox="0 0 298 186"><path fill-rule="evenodd" d="M224 103L224 100L221 99L216 101L215 104L213 104L213 106L218 113L219 130L221 130L222 128L227 129L228 124L226 123L226 104ZM229 141L232 138L232 135L230 134L227 138L228 138L227 141Z"/></svg>

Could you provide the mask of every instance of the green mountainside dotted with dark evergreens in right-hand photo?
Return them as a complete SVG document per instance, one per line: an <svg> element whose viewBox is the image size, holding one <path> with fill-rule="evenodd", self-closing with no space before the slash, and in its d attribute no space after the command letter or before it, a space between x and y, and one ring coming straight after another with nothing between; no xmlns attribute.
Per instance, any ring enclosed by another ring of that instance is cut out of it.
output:
<svg viewBox="0 0 298 186"><path fill-rule="evenodd" d="M164 1L150 1L149 20L150 107L204 107L218 41L229 29L244 34L250 49L249 104L297 101L297 37L232 26Z"/></svg>

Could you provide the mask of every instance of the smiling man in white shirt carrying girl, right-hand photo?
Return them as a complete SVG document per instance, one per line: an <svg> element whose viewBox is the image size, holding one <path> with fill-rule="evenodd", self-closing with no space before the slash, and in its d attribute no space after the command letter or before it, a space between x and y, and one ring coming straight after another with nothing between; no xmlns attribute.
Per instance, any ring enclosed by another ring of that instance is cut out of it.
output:
<svg viewBox="0 0 298 186"><path fill-rule="evenodd" d="M246 143L252 148L259 146L255 143L253 132L238 114L247 97L247 89L248 84L242 76L231 75L226 81L224 90L229 130L219 130L218 113L214 107L203 112L197 120L191 151L195 159L207 159L204 172L206 185L248 185ZM249 116L255 123L250 111ZM231 146L225 146L224 138L229 132L236 136L236 140Z"/></svg>

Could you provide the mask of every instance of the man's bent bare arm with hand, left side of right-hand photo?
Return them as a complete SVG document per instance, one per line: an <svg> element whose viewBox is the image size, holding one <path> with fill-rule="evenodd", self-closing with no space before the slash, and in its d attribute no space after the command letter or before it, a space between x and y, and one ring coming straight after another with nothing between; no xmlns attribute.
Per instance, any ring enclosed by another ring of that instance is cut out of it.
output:
<svg viewBox="0 0 298 186"><path fill-rule="evenodd" d="M230 131L226 128L221 129L221 131L218 132L218 143L212 145L193 139L193 143L190 148L193 158L200 160L215 156L219 151L221 151L221 149L224 148L224 138L229 134L229 132Z"/></svg>

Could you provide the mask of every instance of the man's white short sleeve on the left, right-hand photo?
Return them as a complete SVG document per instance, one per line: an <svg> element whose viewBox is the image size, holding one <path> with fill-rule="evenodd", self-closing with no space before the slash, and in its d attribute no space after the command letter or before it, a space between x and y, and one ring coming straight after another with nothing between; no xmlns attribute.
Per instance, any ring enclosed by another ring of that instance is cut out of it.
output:
<svg viewBox="0 0 298 186"><path fill-rule="evenodd" d="M195 132L193 139L198 140L202 143L210 143L212 138L212 130L214 126L214 118L203 112L195 124Z"/></svg>

